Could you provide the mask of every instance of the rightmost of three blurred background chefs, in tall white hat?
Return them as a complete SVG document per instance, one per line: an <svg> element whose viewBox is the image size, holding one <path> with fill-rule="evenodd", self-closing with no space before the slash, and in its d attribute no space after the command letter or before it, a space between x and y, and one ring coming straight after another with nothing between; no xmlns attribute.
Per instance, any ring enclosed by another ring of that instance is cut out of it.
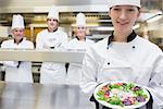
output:
<svg viewBox="0 0 163 109"><path fill-rule="evenodd" d="M86 38L86 16L84 13L78 13L76 16L76 36L70 40L66 48L68 50L85 51L90 45L95 44L92 40ZM79 85L82 76L82 64L70 63L67 69L67 83Z"/></svg>

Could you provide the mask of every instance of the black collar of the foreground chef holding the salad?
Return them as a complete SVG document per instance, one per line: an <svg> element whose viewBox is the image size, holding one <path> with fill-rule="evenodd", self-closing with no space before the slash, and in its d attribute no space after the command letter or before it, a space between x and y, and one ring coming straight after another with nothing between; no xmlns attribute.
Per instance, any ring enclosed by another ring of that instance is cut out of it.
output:
<svg viewBox="0 0 163 109"><path fill-rule="evenodd" d="M112 35L108 39L108 47L111 44L111 41L113 41L113 37L114 37L113 33L112 33ZM134 40L136 38L136 36L137 36L137 34L135 33L135 31L133 31L133 33L127 37L127 43Z"/></svg>

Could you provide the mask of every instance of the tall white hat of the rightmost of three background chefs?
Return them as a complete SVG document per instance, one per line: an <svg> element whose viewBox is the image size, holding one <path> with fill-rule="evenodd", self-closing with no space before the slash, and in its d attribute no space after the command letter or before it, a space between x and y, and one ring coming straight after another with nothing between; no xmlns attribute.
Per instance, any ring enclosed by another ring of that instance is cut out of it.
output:
<svg viewBox="0 0 163 109"><path fill-rule="evenodd" d="M86 16L83 13L78 13L76 16L76 26L86 26Z"/></svg>

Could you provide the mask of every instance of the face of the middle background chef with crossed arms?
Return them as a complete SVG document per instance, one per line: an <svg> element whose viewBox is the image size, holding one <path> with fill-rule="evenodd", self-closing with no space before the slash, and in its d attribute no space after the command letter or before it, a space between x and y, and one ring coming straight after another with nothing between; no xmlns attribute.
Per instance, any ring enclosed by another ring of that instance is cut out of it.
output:
<svg viewBox="0 0 163 109"><path fill-rule="evenodd" d="M58 28L58 20L55 19L48 19L47 20L48 28L54 31Z"/></svg>

